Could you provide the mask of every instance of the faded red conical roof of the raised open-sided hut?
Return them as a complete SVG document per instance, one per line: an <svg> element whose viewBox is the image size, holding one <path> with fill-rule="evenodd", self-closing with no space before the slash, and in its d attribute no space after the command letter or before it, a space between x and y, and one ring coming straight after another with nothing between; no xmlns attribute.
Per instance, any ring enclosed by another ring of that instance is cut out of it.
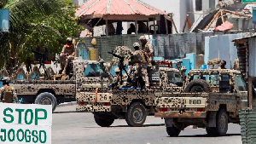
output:
<svg viewBox="0 0 256 144"><path fill-rule="evenodd" d="M90 0L76 10L77 17L104 20L142 20L142 16L154 18L161 14L167 13L140 0Z"/></svg>

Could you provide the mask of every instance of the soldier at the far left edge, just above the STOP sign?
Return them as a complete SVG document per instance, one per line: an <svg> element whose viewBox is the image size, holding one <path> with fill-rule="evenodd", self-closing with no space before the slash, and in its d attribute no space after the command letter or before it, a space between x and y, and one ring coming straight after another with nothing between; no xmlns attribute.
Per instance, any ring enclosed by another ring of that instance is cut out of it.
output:
<svg viewBox="0 0 256 144"><path fill-rule="evenodd" d="M9 86L10 78L4 77L1 79L3 82L3 87L0 88L0 100L3 103L13 103L15 101L18 103L18 97L15 93L15 88Z"/></svg>

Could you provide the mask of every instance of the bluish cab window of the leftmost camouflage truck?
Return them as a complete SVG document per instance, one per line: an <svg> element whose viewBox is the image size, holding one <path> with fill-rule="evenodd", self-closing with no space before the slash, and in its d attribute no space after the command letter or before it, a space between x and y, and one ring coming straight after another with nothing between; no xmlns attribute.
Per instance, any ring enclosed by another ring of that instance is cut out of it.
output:
<svg viewBox="0 0 256 144"><path fill-rule="evenodd" d="M96 64L86 64L84 68L84 77L100 77L102 69Z"/></svg>

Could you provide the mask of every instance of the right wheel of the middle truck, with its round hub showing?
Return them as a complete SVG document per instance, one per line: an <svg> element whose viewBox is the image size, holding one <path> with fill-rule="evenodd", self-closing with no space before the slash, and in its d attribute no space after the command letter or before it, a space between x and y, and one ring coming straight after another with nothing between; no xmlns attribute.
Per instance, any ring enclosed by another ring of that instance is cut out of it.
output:
<svg viewBox="0 0 256 144"><path fill-rule="evenodd" d="M146 117L146 108L140 102L131 104L131 107L125 113L126 123L133 127L143 126Z"/></svg>

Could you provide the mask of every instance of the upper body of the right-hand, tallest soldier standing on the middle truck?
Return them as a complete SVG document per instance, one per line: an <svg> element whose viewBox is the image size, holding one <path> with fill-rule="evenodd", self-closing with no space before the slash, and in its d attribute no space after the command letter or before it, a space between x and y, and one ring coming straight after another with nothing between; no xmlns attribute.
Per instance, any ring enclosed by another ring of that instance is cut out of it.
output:
<svg viewBox="0 0 256 144"><path fill-rule="evenodd" d="M146 39L145 36L141 36L138 39L141 43L143 43L142 45L142 49L143 51L145 51L148 54L148 58L149 58L149 66L151 66L151 61L153 60L154 57L154 46L152 45L152 43L149 43Z"/></svg>

